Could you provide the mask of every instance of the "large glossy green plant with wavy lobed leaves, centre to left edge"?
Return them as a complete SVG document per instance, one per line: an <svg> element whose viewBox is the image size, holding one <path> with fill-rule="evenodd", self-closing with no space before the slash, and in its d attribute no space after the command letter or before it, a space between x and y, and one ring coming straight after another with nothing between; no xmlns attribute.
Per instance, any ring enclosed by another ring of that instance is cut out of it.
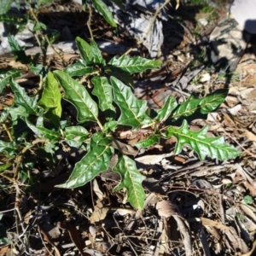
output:
<svg viewBox="0 0 256 256"><path fill-rule="evenodd" d="M15 41L14 38L9 39ZM88 44L77 38L76 44L82 59L63 71L49 72L44 67L43 87L39 87L35 95L29 96L15 81L20 76L19 71L4 71L0 75L1 91L9 84L15 95L14 104L4 108L0 116L0 122L9 135L0 141L0 151L13 161L15 178L20 177L21 170L26 172L26 166L31 164L29 152L44 152L50 161L57 148L68 150L75 147L83 149L86 154L76 163L67 182L57 187L77 188L108 170L111 159L117 155L113 172L119 172L121 182L114 190L126 189L127 201L142 209L145 199L142 182L145 177L137 171L135 161L122 152L117 135L119 127L150 134L146 140L136 144L137 148L160 143L161 137L176 137L175 154L180 153L184 144L189 144L200 160L207 155L219 160L240 155L236 148L224 143L223 137L207 137L207 126L200 131L189 131L186 120L218 108L224 102L225 90L217 90L201 99L189 96L182 104L169 96L163 108L148 109L146 101L134 96L131 75L159 67L160 61L123 55L106 63L96 42ZM14 42L11 46L14 51L19 47ZM28 65L32 67L34 64L29 62ZM76 108L75 118L63 113L62 98ZM182 125L177 127L181 120ZM9 131L9 127L14 129Z"/></svg>

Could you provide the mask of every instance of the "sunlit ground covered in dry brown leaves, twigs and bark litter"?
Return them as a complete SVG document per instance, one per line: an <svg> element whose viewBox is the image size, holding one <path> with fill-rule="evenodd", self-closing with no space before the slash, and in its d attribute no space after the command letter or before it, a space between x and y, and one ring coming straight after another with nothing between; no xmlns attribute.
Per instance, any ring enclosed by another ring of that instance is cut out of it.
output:
<svg viewBox="0 0 256 256"><path fill-rule="evenodd" d="M147 177L145 206L137 211L125 202L125 191L113 192L119 176L112 171L78 189L55 188L67 180L83 151L57 152L55 170L35 155L37 165L32 172L38 176L30 189L0 177L1 224L9 238L0 247L0 255L189 255L189 249L198 256L256 255L256 38L250 39L234 73L216 71L201 55L227 3L214 1L217 5L207 9L205 3L196 2L166 9L172 18L163 21L164 44L157 56L162 66L135 75L135 84L148 86L149 91L146 96L140 90L135 93L160 108L170 93L183 102L192 93L206 96L226 88L229 93L220 108L207 119L193 120L190 129L209 125L209 137L224 136L226 143L243 152L241 156L200 161L189 147L174 155L171 139L137 155L136 138L127 137L125 147ZM90 31L84 26L88 15L88 10L84 14L78 4L65 1L39 9L38 19L60 31L61 41L77 36L89 41ZM91 31L96 42L122 44L125 50L136 49L131 55L150 58L129 32L119 27L113 30L95 11ZM109 52L103 56L113 57ZM65 65L79 59L73 53L64 52L63 57ZM56 55L48 58L52 69L63 68ZM4 55L0 65L19 64L12 55ZM30 80L31 87L38 83L37 78ZM170 86L173 81L179 83ZM2 95L1 101L3 109L11 104L11 97Z"/></svg>

